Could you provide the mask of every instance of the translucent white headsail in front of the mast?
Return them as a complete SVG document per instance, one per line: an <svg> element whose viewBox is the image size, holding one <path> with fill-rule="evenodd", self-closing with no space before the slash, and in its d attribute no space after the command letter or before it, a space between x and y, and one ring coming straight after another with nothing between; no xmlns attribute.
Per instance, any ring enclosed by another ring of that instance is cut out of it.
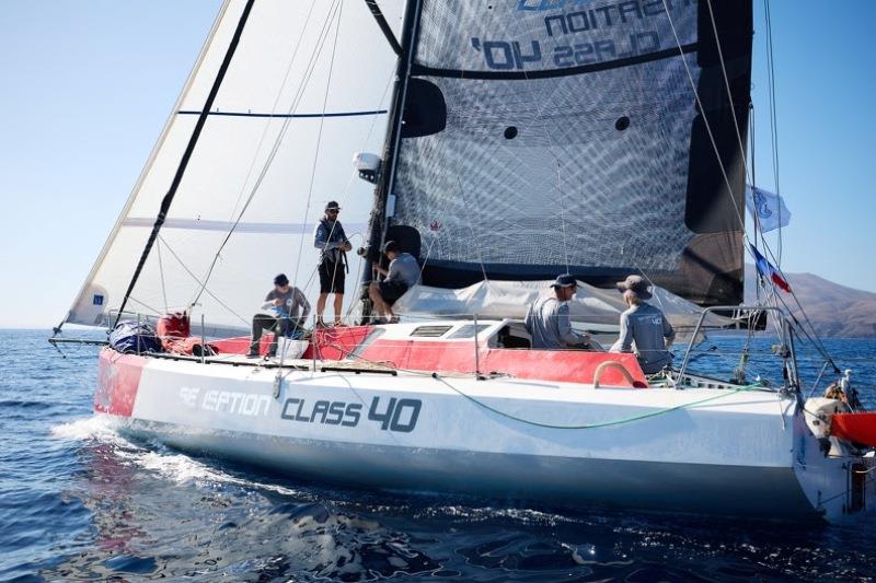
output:
<svg viewBox="0 0 876 583"><path fill-rule="evenodd" d="M67 322L105 325L119 308L244 5L223 5ZM397 36L402 0L381 9ZM341 202L354 245L365 236L371 187L350 160L381 149L395 59L365 2L256 2L126 313L197 299L196 319L246 328L278 272L313 303L312 233L325 202ZM360 272L348 259L346 304Z"/></svg>

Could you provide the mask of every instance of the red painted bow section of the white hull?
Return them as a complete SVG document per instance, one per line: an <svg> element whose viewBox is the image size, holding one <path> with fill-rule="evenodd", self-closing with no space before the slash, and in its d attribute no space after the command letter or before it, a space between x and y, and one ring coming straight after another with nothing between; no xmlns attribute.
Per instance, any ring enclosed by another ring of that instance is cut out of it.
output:
<svg viewBox="0 0 876 583"><path fill-rule="evenodd" d="M143 372L146 359L135 354L119 354L115 350L101 350L97 363L97 390L94 393L94 410L102 413L130 417L137 387Z"/></svg>

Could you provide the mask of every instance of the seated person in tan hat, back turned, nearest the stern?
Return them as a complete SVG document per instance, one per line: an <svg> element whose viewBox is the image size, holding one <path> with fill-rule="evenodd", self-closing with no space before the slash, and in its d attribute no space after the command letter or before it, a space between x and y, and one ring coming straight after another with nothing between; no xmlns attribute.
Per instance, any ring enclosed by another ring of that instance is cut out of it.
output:
<svg viewBox="0 0 876 583"><path fill-rule="evenodd" d="M630 308L621 314L621 334L611 347L611 352L632 352L635 346L636 360L645 374L660 372L672 363L669 347L676 333L660 308L650 305L648 282L641 276L630 276L618 282L623 299Z"/></svg>

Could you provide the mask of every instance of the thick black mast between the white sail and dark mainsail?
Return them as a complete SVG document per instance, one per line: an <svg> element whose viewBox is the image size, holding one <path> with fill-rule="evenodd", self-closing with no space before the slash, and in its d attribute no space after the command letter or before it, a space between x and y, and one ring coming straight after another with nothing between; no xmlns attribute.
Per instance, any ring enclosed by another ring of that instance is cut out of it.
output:
<svg viewBox="0 0 876 583"><path fill-rule="evenodd" d="M369 8L371 8L370 2ZM361 278L365 288L371 282L374 263L380 261L380 246L389 228L390 217L385 214L387 200L392 193L395 179L395 161L401 143L405 97L411 78L411 67L414 61L414 45L419 30L419 9L420 0L407 0L404 22L402 23L402 46L399 55L399 67L395 72L390 123L387 128L387 140L383 147L382 171L380 173L380 182L374 188L374 206L368 221L368 246ZM366 317L371 312L367 293L362 295L362 317Z"/></svg>

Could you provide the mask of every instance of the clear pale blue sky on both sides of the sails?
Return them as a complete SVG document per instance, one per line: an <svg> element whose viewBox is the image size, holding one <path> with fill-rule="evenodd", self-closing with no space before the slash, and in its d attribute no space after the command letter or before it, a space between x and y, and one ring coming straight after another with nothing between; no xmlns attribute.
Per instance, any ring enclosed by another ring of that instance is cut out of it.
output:
<svg viewBox="0 0 876 583"><path fill-rule="evenodd" d="M64 318L220 4L0 3L0 327ZM774 190L763 0L754 7L754 167ZM876 292L876 2L774 0L770 11L779 185L792 212L782 267Z"/></svg>

